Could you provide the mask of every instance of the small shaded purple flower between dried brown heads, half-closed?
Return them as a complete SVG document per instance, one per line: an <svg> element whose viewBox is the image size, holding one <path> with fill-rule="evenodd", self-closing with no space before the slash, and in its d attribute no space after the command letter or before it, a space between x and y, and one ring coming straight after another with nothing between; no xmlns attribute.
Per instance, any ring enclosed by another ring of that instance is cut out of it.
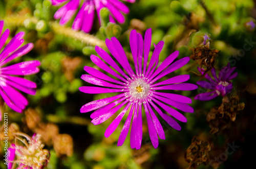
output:
<svg viewBox="0 0 256 169"><path fill-rule="evenodd" d="M205 78L209 80L207 81L198 81L197 84L203 88L210 89L212 91L208 91L205 93L200 93L195 96L196 100L200 101L208 101L211 99L216 98L218 95L225 96L226 94L230 93L233 88L233 84L231 82L231 79L236 78L238 76L238 73L233 73L234 69L236 67L230 67L230 63L227 64L226 67L223 67L218 75L216 75L216 69L211 69L211 74L213 78L211 78L208 74L205 75ZM204 69L200 69L198 67L198 70L203 75ZM231 75L232 74L232 75Z"/></svg>

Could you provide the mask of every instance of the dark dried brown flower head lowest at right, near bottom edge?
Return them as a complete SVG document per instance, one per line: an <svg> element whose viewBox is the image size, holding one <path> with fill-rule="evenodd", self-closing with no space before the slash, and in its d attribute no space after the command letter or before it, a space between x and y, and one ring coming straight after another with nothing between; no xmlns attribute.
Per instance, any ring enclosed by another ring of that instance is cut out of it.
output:
<svg viewBox="0 0 256 169"><path fill-rule="evenodd" d="M189 163L188 168L197 168L202 163L207 165L209 163L209 151L209 142L199 140L198 137L194 136L184 155L185 160Z"/></svg>

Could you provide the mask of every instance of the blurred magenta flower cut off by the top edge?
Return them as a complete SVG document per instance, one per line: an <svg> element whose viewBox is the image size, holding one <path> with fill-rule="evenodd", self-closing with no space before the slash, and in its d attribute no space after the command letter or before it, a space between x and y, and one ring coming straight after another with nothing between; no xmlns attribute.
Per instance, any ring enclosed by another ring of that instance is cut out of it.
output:
<svg viewBox="0 0 256 169"><path fill-rule="evenodd" d="M52 0L52 5L59 6L66 1L68 1L68 3L58 9L54 14L55 19L60 19L60 25L65 25L68 21L70 21L81 3L79 0ZM123 1L129 3L135 2L135 0ZM72 28L74 30L83 30L84 32L89 33L93 26L94 10L96 9L99 19L99 11L103 7L110 10L111 22L115 22L116 19L119 23L124 23L125 19L122 13L128 14L130 12L129 8L118 0L84 0L78 14L75 17Z"/></svg>

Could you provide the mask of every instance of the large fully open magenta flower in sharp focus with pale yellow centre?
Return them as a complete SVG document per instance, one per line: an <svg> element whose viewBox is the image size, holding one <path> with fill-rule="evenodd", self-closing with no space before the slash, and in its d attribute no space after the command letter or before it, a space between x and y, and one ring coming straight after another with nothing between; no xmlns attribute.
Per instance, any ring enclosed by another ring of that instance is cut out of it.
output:
<svg viewBox="0 0 256 169"><path fill-rule="evenodd" d="M130 34L130 45L136 71L134 73L134 70L127 60L125 52L117 38L112 37L111 40L106 39L105 42L109 51L126 71L127 75L108 53L106 53L100 47L96 46L96 52L109 65L107 65L95 55L91 55L91 60L101 69L113 75L118 80L113 79L104 73L101 73L101 71L95 68L85 66L84 70L86 70L90 75L82 75L81 79L91 84L103 87L82 86L79 88L79 90L84 93L121 93L110 98L100 99L87 103L81 107L80 112L85 113L97 109L91 114L91 118L93 118L92 123L94 125L98 125L103 123L106 119L110 118L114 113L121 109L122 106L124 106L124 109L121 111L121 113L117 115L117 117L105 131L105 137L109 137L119 125L126 111L128 111L131 107L130 113L127 116L119 136L117 146L121 146L123 144L132 121L130 137L131 148L140 149L142 141L143 105L148 124L148 132L150 133L150 138L154 148L157 148L158 135L161 139L165 139L165 135L163 128L152 107L170 126L176 130L181 130L181 127L173 119L173 117L177 118L181 122L187 122L187 119L183 114L167 105L171 105L184 112L194 112L193 108L187 105L187 103L192 103L190 98L179 94L159 92L157 90L194 90L198 86L190 83L182 83L189 79L189 75L179 75L162 82L156 81L184 66L189 61L189 57L179 59L171 64L179 54L179 52L176 51L169 55L161 63L161 65L157 67L159 54L164 44L163 41L160 41L156 45L153 55L147 66L147 61L149 60L148 54L150 53L151 47L151 29L146 30L144 43L142 35L136 33L136 30L133 30ZM114 71L110 66L116 71ZM167 111L171 116L164 114L160 107Z"/></svg>

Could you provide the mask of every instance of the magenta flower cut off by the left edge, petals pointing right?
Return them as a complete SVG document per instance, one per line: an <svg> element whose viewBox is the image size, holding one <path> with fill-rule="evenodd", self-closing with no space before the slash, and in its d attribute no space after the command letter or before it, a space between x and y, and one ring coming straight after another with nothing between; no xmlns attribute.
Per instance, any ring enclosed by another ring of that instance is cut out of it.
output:
<svg viewBox="0 0 256 169"><path fill-rule="evenodd" d="M4 21L0 21L0 35L2 33ZM0 36L0 51L10 34L9 29ZM39 61L26 61L3 67L13 59L27 54L32 48L33 43L25 44L19 47L24 42L24 32L16 34L11 41L4 47L0 53L0 95L5 103L14 111L21 113L28 105L28 100L14 88L28 94L35 94L36 84L24 78L16 77L15 75L32 75L38 73L40 65ZM14 76L13 76L14 75Z"/></svg>

